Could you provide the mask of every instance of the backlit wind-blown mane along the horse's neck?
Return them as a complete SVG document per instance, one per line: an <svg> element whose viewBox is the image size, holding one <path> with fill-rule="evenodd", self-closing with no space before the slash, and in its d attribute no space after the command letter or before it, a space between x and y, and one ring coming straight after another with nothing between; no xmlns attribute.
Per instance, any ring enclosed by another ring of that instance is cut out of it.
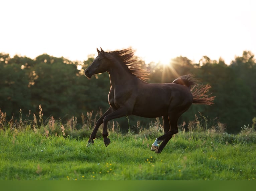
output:
<svg viewBox="0 0 256 191"><path fill-rule="evenodd" d="M134 50L132 48L111 51L109 53L118 57L134 76L143 81L148 79L147 76L149 73L141 68L141 63L138 62L138 59L134 56Z"/></svg>

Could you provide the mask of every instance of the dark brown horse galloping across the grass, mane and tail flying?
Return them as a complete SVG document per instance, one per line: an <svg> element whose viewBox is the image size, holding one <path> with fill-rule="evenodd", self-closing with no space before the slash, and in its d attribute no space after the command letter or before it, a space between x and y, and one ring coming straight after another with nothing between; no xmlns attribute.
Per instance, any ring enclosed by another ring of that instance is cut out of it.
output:
<svg viewBox="0 0 256 191"><path fill-rule="evenodd" d="M108 146L107 122L111 119L126 115L162 116L164 135L158 137L151 147L152 151L160 153L172 135L178 132L178 118L192 103L213 104L214 97L206 94L211 86L198 86L190 91L190 87L196 85L192 75L181 76L173 83L149 84L145 82L147 72L134 59L132 49L105 52L97 48L97 51L98 56L85 70L85 76L91 78L95 74L109 73L110 107L96 122L88 144L94 143L103 123L103 140Z"/></svg>

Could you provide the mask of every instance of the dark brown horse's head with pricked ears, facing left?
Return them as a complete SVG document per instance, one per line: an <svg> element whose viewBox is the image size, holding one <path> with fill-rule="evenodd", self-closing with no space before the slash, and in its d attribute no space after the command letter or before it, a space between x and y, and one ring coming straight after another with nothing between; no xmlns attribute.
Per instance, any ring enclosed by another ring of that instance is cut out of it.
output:
<svg viewBox="0 0 256 191"><path fill-rule="evenodd" d="M109 53L97 48L98 56L93 60L92 64L85 70L85 76L91 78L92 75L104 73L110 66Z"/></svg>

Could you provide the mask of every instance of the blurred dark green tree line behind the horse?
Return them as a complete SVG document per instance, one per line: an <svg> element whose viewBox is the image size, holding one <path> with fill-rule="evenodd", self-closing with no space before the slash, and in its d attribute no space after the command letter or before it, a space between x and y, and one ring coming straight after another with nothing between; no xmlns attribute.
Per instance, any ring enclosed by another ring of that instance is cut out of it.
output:
<svg viewBox="0 0 256 191"><path fill-rule="evenodd" d="M84 70L92 63L93 56L84 62L56 58L47 54L35 59L0 53L0 109L7 119L33 118L38 106L45 118L67 120L76 116L108 108L110 88L107 73L93 76L88 80ZM206 121L206 128L224 126L228 132L238 132L241 127L252 124L256 116L256 61L250 51L235 57L230 65L223 59L211 60L204 56L199 63L186 57L176 57L169 65L145 64L150 75L149 83L172 82L178 76L194 74L203 84L212 86L216 96L214 105L192 105L179 119L181 126L188 125L195 117ZM1 113L0 112L0 113ZM200 112L200 113L199 113ZM82 114L83 113L83 114ZM202 117L203 116L203 117ZM152 120L152 119L151 119ZM118 119L120 128L139 125L147 127L150 119L129 116ZM184 121L184 122L183 122Z"/></svg>

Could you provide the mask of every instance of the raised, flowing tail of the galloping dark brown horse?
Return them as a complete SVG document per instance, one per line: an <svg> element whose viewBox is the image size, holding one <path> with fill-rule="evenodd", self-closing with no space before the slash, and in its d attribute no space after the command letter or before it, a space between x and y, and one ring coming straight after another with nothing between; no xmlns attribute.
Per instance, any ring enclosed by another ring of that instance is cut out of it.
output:
<svg viewBox="0 0 256 191"><path fill-rule="evenodd" d="M194 86L191 89L191 93L193 95L193 103L212 105L215 96L209 97L209 95L211 95L211 94L207 94L207 92L210 90L210 88L212 88L212 86L197 85L196 82L197 82L197 80L194 79L193 75L188 74L188 75L181 76L181 77L177 78L172 83L186 86L189 89L191 86ZM195 85L197 85L197 86L195 86Z"/></svg>

